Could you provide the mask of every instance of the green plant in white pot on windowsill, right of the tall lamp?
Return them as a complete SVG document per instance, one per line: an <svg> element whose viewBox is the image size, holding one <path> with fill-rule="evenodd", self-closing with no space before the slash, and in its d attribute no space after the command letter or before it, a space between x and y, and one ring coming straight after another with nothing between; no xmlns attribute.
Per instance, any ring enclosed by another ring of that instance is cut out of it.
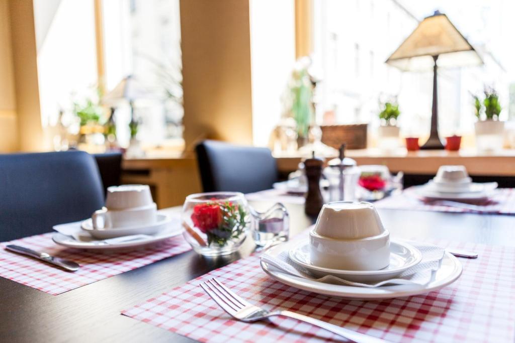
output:
<svg viewBox="0 0 515 343"><path fill-rule="evenodd" d="M476 146L479 150L496 150L503 147L504 122L499 120L502 107L499 95L493 88L485 88L483 101L474 96L474 107L477 122Z"/></svg>

